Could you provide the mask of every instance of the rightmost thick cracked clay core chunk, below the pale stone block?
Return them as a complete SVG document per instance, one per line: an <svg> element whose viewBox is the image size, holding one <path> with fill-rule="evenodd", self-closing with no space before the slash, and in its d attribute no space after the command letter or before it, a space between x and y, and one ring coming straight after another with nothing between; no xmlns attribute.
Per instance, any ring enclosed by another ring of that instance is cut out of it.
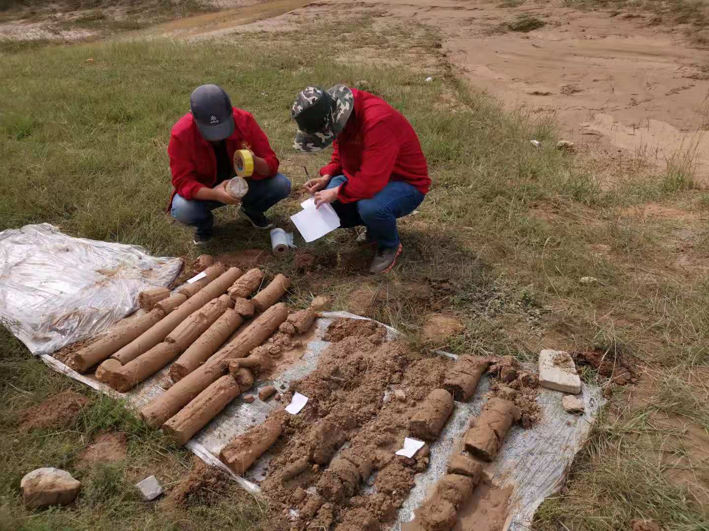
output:
<svg viewBox="0 0 709 531"><path fill-rule="evenodd" d="M491 398L475 421L475 426L465 433L465 449L486 461L495 459L507 430L522 413L515 404L501 398Z"/></svg>

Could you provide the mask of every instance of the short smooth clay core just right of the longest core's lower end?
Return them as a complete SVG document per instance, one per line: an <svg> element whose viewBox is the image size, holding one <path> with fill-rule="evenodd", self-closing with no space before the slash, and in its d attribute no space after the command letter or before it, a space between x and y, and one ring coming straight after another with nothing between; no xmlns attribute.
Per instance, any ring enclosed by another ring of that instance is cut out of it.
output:
<svg viewBox="0 0 709 531"><path fill-rule="evenodd" d="M235 379L230 375L223 376L164 423L162 430L171 435L177 445L182 446L216 417L239 393L239 384Z"/></svg>

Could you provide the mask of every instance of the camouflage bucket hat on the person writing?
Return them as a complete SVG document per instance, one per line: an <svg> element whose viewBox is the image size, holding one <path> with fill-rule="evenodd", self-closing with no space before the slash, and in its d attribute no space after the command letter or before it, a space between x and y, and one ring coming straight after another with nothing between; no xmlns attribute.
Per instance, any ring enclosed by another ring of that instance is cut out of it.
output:
<svg viewBox="0 0 709 531"><path fill-rule="evenodd" d="M333 143L350 118L354 96L345 85L335 85L327 91L308 86L298 93L291 117L298 124L293 147L301 152L319 152Z"/></svg>

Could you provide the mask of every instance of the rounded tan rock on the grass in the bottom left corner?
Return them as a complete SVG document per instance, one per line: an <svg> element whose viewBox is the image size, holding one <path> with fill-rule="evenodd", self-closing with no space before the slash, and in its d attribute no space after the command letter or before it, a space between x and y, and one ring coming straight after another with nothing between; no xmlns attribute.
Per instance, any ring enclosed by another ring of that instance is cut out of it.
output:
<svg viewBox="0 0 709 531"><path fill-rule="evenodd" d="M22 501L30 509L72 503L82 488L66 470L38 468L26 474L20 482Z"/></svg>

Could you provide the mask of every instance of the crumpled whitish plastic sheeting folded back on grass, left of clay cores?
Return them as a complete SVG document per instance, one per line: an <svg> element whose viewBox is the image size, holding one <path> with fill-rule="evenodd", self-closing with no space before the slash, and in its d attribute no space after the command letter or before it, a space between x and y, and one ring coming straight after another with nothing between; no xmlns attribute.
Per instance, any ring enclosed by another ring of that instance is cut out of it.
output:
<svg viewBox="0 0 709 531"><path fill-rule="evenodd" d="M0 322L33 354L96 336L135 311L138 293L167 286L181 258L72 238L48 223L0 232Z"/></svg>

